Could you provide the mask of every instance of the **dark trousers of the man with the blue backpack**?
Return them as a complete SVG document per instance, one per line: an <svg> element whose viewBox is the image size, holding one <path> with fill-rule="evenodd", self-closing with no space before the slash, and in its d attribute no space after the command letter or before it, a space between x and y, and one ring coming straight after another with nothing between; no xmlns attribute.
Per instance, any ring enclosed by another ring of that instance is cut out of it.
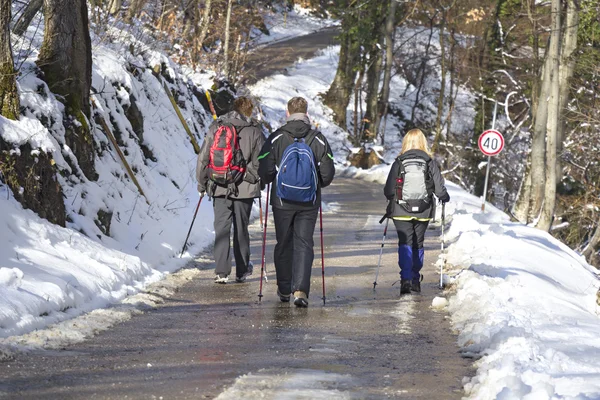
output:
<svg viewBox="0 0 600 400"><path fill-rule="evenodd" d="M300 290L308 296L310 274L315 258L315 225L319 209L284 210L273 207L275 220L275 270L281 294Z"/></svg>

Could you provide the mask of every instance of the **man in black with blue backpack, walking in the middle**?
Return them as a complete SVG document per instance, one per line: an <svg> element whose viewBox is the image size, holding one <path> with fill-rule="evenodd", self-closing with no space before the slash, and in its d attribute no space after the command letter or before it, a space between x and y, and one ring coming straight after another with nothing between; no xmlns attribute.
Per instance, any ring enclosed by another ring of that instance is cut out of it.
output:
<svg viewBox="0 0 600 400"><path fill-rule="evenodd" d="M277 238L277 295L289 302L293 294L297 307L308 307L321 189L335 175L329 143L311 127L307 112L304 98L288 102L287 122L265 142L258 169L262 185L273 182L270 203Z"/></svg>

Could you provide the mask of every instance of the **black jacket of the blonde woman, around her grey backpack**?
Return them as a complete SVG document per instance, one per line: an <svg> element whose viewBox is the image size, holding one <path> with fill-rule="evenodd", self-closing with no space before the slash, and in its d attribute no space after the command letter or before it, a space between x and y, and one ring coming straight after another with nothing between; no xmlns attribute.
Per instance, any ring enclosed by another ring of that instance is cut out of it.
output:
<svg viewBox="0 0 600 400"><path fill-rule="evenodd" d="M433 217L435 212L435 202L431 199L431 206L421 213L411 213L407 211L404 207L394 201L394 196L396 192L396 177L398 176L398 168L400 167L400 162L405 159L410 158L420 158L427 161L428 165L428 175L429 175L429 188L432 193L436 195L436 197L442 201L448 201L450 195L448 195L448 191L446 190L446 186L444 184L444 177L440 172L440 167L437 162L432 159L429 154L425 153L421 150L409 150L404 154L401 154L396 158L394 164L392 164L392 168L390 169L390 173L388 175L388 179L385 183L385 187L383 189L383 193L385 197L388 199L388 209L387 214L388 217L393 217L397 219L430 219Z"/></svg>

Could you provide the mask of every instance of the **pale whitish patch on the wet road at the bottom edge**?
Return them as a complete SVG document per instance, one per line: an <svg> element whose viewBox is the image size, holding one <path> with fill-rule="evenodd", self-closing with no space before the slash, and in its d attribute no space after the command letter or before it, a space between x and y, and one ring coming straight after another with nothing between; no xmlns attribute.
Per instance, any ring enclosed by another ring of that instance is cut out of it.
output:
<svg viewBox="0 0 600 400"><path fill-rule="evenodd" d="M237 378L218 400L352 399L352 377L312 369L260 370Z"/></svg>

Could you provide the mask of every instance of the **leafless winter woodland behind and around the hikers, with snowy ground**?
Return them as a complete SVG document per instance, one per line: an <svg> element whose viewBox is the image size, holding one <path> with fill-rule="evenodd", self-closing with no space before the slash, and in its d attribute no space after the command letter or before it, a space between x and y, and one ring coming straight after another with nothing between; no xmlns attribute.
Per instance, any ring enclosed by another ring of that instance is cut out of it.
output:
<svg viewBox="0 0 600 400"><path fill-rule="evenodd" d="M377 149L393 151L396 138L386 127L393 116L399 137L411 127L427 131L445 178L482 196L487 157L477 139L495 123L506 148L493 158L487 198L600 267L600 5L594 0L0 0L1 115L23 115L19 82L35 74L64 105L72 150L66 159L73 165L61 169L31 143L0 135L2 184L23 207L65 226L57 177L98 179L102 149L90 133L101 124L91 96L101 90L92 87L97 43L128 32L190 70L218 71L240 90L251 80L257 38L269 34L265 13L285 18L296 5L339 21L339 62L322 99L347 132L349 148L377 153L360 165L385 162ZM36 67L24 70L35 47L27 32L42 31ZM415 56L410 36L417 33L427 41ZM128 51L142 54L135 43ZM398 76L410 83L395 93L400 102L390 100ZM476 99L468 125L456 122L464 90ZM202 133L195 135L200 140Z"/></svg>

